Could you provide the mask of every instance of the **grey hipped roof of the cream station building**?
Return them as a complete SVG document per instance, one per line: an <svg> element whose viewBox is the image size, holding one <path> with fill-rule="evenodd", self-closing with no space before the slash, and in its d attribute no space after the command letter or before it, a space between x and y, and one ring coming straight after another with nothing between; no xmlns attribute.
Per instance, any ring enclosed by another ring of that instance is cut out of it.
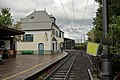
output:
<svg viewBox="0 0 120 80"><path fill-rule="evenodd" d="M34 19L31 20L31 17L34 17ZM32 31L32 30L35 31L40 29L48 30L48 29L52 29L53 25L60 30L60 28L54 22L52 22L51 18L56 19L53 15L49 15L45 10L34 11L33 13L29 14L28 16L26 16L24 19L21 20L22 30L23 31Z"/></svg>

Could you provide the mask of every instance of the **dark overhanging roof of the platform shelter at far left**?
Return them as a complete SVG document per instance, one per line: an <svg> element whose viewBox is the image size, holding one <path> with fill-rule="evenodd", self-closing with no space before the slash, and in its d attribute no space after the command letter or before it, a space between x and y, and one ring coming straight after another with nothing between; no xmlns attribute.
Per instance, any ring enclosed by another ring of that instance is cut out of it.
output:
<svg viewBox="0 0 120 80"><path fill-rule="evenodd" d="M0 36L14 36L14 35L21 35L21 34L25 34L25 32L0 26Z"/></svg>

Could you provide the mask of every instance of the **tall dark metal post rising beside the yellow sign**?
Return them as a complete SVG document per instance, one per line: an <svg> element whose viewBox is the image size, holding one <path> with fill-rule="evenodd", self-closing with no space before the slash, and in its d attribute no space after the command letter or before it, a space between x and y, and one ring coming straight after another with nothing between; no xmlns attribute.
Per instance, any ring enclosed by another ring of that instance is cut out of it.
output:
<svg viewBox="0 0 120 80"><path fill-rule="evenodd" d="M112 80L112 65L111 56L108 52L109 41L107 39L107 28L109 25L108 19L108 0L102 0L102 14L103 14L103 55L102 55L102 80Z"/></svg>

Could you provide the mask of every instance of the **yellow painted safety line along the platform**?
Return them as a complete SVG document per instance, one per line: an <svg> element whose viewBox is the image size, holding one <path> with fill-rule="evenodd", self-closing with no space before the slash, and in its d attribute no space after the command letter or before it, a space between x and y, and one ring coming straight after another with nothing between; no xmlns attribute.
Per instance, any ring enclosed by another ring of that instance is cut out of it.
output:
<svg viewBox="0 0 120 80"><path fill-rule="evenodd" d="M58 56L58 57L60 57L60 56ZM58 57L55 57L55 58L58 58ZM55 58L54 58L54 59L55 59ZM53 60L53 59L52 59L52 60ZM38 67L38 66L40 66L40 65L42 65L42 64L45 64L45 63L47 63L47 62L49 62L49 60L46 61L46 62L40 63L40 64L38 64L38 65L35 65L35 66L33 66L33 67L31 67L31 68L29 68L29 69L27 69L27 70L24 70L24 71L22 71L22 72L20 72L20 73L17 73L17 74L14 74L14 75L12 75L12 76L9 76L9 77L7 77L7 78L4 78L4 79L2 79L2 80L8 80L8 79L13 78L13 77L15 77L15 76L18 76L18 75L20 75L20 74L23 74L23 73L25 73L25 72L28 72L28 71L30 71L30 70L32 70L32 69L34 69L34 68L36 68L36 67Z"/></svg>

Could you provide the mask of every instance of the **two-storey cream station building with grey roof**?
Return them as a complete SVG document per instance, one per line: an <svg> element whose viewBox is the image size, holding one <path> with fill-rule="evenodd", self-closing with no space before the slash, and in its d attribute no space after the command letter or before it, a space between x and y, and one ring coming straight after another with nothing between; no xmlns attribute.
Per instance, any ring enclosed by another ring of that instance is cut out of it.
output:
<svg viewBox="0 0 120 80"><path fill-rule="evenodd" d="M17 43L20 54L55 54L61 51L64 32L56 24L56 18L46 10L34 11L21 20L25 32L23 42Z"/></svg>

